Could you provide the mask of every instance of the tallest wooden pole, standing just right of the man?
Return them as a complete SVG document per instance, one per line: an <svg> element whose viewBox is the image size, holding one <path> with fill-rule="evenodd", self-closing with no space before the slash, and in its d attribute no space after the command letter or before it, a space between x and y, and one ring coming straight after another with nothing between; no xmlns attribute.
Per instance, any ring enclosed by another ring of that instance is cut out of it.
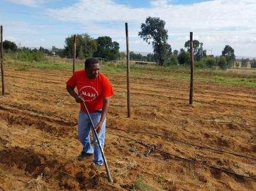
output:
<svg viewBox="0 0 256 191"><path fill-rule="evenodd" d="M127 110L128 110L128 118L131 118L130 84L129 84L130 56L129 56L129 36L128 36L128 23L127 22L125 22L125 33L126 33L126 49L127 49Z"/></svg>

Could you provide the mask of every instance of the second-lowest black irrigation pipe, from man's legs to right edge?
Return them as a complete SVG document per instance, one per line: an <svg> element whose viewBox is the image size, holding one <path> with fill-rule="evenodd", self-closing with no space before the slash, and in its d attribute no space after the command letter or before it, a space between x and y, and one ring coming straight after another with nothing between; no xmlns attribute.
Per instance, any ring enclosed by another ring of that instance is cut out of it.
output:
<svg viewBox="0 0 256 191"><path fill-rule="evenodd" d="M122 130L122 131L126 131L126 132L143 133L143 134L161 136L161 137L163 137L163 138L175 140L175 141L177 141L177 142L185 143L185 144L187 144L187 145L197 146L197 147L202 148L202 149L215 150L215 151L222 152L222 153L228 153L228 154L231 154L231 155L241 156L241 157L243 157L243 158L256 160L256 158L251 158L250 156L244 156L244 155L240 155L240 154L237 154L237 153L227 152L227 151L224 151L224 150L212 149L212 148L208 148L208 147L206 147L206 146L194 145L194 144L192 144L192 143L188 143L188 142L185 142L185 141L182 141L182 140L170 138L170 137L165 136L165 135L159 135L159 134L148 133L148 132L140 132L140 131L136 131L136 130L124 130L124 129L118 129L118 128L112 128L112 127L107 127L107 128L116 129L116 130Z"/></svg>

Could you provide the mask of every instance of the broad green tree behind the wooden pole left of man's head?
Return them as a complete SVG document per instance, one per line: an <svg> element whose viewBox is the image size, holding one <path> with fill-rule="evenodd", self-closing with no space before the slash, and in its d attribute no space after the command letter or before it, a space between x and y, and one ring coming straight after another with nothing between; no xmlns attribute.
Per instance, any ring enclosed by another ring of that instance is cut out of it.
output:
<svg viewBox="0 0 256 191"><path fill-rule="evenodd" d="M91 38L87 33L76 35L76 58L84 59L92 57L95 51L97 51L97 42L95 39ZM62 56L67 56L67 58L74 57L74 36L69 36L65 39Z"/></svg>

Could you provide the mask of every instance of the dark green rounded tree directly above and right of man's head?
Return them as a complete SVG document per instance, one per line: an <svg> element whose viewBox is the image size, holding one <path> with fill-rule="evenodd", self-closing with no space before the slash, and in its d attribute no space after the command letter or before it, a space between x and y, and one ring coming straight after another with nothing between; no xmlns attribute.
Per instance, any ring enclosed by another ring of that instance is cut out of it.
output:
<svg viewBox="0 0 256 191"><path fill-rule="evenodd" d="M94 57L116 60L119 57L119 43L112 42L109 36L99 36Z"/></svg>

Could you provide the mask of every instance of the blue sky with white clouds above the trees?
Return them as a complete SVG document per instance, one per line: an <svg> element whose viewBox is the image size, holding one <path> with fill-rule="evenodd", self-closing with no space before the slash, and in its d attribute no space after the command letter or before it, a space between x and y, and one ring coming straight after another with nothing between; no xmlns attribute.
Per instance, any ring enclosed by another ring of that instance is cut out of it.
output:
<svg viewBox="0 0 256 191"><path fill-rule="evenodd" d="M165 21L172 51L193 40L207 55L219 56L229 45L237 58L256 58L255 0L0 0L3 39L18 47L64 48L65 39L87 33L109 36L126 51L152 53L138 32L148 16Z"/></svg>

